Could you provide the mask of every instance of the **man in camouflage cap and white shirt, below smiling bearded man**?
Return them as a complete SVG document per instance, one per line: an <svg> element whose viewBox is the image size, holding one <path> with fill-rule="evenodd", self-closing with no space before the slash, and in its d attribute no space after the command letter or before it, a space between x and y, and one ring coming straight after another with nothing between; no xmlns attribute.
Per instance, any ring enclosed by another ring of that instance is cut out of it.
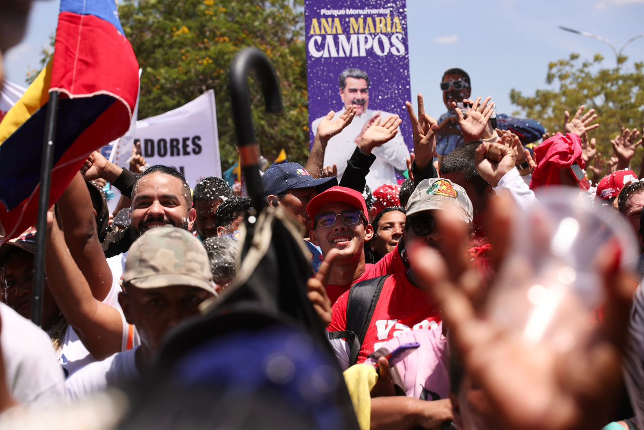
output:
<svg viewBox="0 0 644 430"><path fill-rule="evenodd" d="M128 323L137 327L141 346L71 375L66 381L71 400L140 378L165 335L199 315L199 305L216 295L204 246L187 230L170 226L147 230L134 242L123 286L118 300Z"/></svg>

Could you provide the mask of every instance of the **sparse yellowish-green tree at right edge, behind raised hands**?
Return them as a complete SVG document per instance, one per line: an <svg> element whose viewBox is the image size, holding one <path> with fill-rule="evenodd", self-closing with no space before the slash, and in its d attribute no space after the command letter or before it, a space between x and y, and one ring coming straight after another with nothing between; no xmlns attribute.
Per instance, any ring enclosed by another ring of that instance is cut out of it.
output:
<svg viewBox="0 0 644 430"><path fill-rule="evenodd" d="M601 126L589 134L597 139L602 157L610 158L611 139L621 127L641 128L644 124L644 63L634 63L625 70L626 60L621 57L617 68L605 68L599 54L592 60L571 54L568 59L548 64L545 81L551 88L536 90L532 97L511 90L510 100L551 133L563 130L566 110L574 115L582 104L586 110L594 109ZM636 173L641 160L639 148L632 162Z"/></svg>

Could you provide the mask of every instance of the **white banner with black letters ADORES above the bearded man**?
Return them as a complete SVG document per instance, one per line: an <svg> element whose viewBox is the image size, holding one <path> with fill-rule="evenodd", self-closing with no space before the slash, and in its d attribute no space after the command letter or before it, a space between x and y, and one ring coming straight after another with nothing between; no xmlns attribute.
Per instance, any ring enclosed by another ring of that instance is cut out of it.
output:
<svg viewBox="0 0 644 430"><path fill-rule="evenodd" d="M127 167L131 145L140 142L148 166L164 164L185 175L191 188L208 176L222 177L214 91L180 108L137 121L131 144L119 142L114 162Z"/></svg>

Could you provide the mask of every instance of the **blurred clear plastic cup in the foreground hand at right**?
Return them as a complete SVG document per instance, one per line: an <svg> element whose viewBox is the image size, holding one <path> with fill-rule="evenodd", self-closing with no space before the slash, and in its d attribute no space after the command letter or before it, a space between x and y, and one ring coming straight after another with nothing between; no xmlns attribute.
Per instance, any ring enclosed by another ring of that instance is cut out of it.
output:
<svg viewBox="0 0 644 430"><path fill-rule="evenodd" d="M486 313L529 342L559 351L583 342L604 297L600 262L620 249L634 273L635 233L620 213L592 206L578 190L546 188L518 215L506 260L491 286Z"/></svg>

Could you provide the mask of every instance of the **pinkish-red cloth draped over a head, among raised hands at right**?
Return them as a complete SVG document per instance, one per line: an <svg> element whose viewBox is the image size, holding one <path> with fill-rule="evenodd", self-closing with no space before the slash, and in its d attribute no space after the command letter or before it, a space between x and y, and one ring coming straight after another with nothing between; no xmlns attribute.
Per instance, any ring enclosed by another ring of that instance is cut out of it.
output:
<svg viewBox="0 0 644 430"><path fill-rule="evenodd" d="M535 148L535 156L538 164L532 173L531 190L542 186L561 185L559 172L568 170L575 162L582 169L586 168L586 162L582 157L582 140L574 133L567 133L565 136L556 133Z"/></svg>

